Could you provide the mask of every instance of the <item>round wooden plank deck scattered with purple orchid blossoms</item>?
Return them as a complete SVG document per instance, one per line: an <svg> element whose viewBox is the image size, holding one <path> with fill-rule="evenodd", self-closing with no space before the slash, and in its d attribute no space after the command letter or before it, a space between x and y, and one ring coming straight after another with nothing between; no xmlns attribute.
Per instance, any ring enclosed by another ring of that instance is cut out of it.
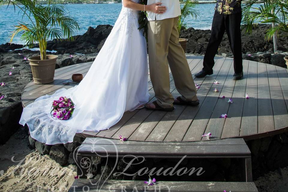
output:
<svg viewBox="0 0 288 192"><path fill-rule="evenodd" d="M191 73L202 69L202 56L187 56ZM211 132L210 139L243 137L255 139L288 130L288 73L287 69L255 61L243 61L244 78L232 80L233 59L215 58L214 74L194 79L201 86L198 90L200 105L197 107L175 106L173 112L149 111L145 109L126 112L112 128L100 132L83 132L84 137L118 138L123 135L138 141L199 141L207 140L202 134ZM51 95L64 85L73 73L85 75L92 62L71 65L55 71L51 84L29 83L22 93L22 104L27 106L41 95ZM213 84L216 79L220 84ZM171 92L179 96L170 73ZM217 88L219 92L214 92ZM150 101L154 92L149 78ZM250 99L244 98L245 94ZM225 99L219 96L225 96ZM227 103L228 98L233 103ZM228 118L219 118L221 114Z"/></svg>

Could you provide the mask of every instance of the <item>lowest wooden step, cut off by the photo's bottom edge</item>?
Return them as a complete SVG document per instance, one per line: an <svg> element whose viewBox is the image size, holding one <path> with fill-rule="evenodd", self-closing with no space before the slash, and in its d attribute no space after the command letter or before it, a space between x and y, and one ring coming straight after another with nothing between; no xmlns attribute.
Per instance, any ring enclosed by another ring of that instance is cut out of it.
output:
<svg viewBox="0 0 288 192"><path fill-rule="evenodd" d="M76 179L68 192L257 192L253 182L158 182L147 186L143 181Z"/></svg>

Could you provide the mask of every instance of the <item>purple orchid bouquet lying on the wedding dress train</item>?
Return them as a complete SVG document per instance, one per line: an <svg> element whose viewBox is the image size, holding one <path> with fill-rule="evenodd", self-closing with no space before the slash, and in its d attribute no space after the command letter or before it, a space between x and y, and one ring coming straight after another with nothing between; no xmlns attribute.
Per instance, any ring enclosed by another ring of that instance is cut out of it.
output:
<svg viewBox="0 0 288 192"><path fill-rule="evenodd" d="M55 119L68 120L72 116L75 104L70 98L60 97L53 101L51 116Z"/></svg>

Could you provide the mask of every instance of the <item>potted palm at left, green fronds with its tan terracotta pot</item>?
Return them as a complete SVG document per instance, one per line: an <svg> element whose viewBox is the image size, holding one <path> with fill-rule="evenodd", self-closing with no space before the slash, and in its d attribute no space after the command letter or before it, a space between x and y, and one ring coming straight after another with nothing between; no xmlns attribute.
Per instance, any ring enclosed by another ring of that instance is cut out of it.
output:
<svg viewBox="0 0 288 192"><path fill-rule="evenodd" d="M57 55L46 55L47 41L50 39L73 40L79 29L77 21L69 15L64 4L39 4L37 0L0 0L1 4L12 4L22 13L22 21L18 22L11 35L10 43L18 33L26 46L33 48L39 44L40 55L28 58L31 65L34 83L46 84L53 82ZM28 22L23 22L23 19Z"/></svg>

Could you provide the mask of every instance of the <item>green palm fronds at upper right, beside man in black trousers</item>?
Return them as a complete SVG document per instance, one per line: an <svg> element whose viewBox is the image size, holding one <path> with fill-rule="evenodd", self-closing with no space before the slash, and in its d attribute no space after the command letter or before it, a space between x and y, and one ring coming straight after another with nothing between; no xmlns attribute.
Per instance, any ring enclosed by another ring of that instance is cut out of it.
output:
<svg viewBox="0 0 288 192"><path fill-rule="evenodd" d="M265 38L271 40L274 34L280 31L288 33L288 0L264 0L264 5L253 8L257 0L246 0L243 10L242 23L246 26L246 32L252 33L257 23L275 25L266 31Z"/></svg>

